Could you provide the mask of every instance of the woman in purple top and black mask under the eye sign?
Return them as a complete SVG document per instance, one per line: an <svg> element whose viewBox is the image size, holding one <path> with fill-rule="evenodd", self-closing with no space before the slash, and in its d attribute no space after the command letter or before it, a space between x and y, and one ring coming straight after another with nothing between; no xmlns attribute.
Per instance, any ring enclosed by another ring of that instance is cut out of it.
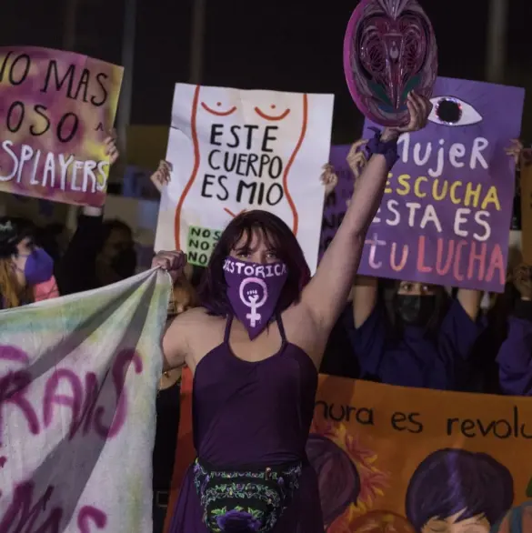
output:
<svg viewBox="0 0 532 533"><path fill-rule="evenodd" d="M378 303L376 278L358 278L351 339L362 379L390 385L460 390L469 377L468 357L482 327L481 293L402 281L391 319Z"/></svg>

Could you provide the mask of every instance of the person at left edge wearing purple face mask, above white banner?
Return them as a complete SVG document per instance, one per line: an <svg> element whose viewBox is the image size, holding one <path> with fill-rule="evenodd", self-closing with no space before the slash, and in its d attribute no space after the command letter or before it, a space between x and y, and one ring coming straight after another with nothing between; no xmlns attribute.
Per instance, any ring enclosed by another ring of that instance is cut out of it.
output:
<svg viewBox="0 0 532 533"><path fill-rule="evenodd" d="M35 246L35 227L22 218L0 217L1 308L56 296L54 260Z"/></svg>

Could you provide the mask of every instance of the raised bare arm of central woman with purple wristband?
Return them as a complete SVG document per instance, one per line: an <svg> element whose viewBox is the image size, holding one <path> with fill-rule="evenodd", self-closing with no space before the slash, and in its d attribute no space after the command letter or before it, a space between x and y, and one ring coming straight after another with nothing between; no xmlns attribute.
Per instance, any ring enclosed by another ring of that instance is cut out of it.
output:
<svg viewBox="0 0 532 533"><path fill-rule="evenodd" d="M367 162L358 178L346 216L327 248L315 277L303 291L301 303L307 307L316 327L326 334L346 306L362 256L367 228L380 206L390 166L395 162L395 159L386 160L390 159L385 156L386 147L388 153L394 156L394 141L396 142L397 137L401 133L417 131L424 127L432 108L427 98L414 93L408 95L407 106L410 112L408 125L386 128L380 136L378 151L383 153L374 154Z"/></svg>

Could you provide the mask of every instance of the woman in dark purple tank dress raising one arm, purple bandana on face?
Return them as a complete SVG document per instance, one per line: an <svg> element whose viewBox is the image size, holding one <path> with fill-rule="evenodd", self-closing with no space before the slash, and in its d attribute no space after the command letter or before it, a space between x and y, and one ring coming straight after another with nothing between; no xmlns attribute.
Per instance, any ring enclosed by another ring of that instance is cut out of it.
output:
<svg viewBox="0 0 532 533"><path fill-rule="evenodd" d="M397 137L427 122L426 98L410 94L407 106L408 125L386 128L368 145L356 194L312 279L285 222L264 211L242 213L210 258L202 307L166 329L166 369L186 363L195 375L198 454L172 533L323 532L316 472L305 453L317 369L396 162ZM174 277L185 264L179 251L154 260Z"/></svg>

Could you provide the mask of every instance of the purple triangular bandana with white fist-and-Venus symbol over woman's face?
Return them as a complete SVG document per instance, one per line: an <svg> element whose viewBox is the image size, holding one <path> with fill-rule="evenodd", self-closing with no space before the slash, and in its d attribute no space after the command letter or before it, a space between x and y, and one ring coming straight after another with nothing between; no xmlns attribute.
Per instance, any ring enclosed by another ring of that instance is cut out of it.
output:
<svg viewBox="0 0 532 533"><path fill-rule="evenodd" d="M249 338L256 338L268 325L288 277L284 263L259 265L227 257L224 263L227 297L236 318Z"/></svg>

